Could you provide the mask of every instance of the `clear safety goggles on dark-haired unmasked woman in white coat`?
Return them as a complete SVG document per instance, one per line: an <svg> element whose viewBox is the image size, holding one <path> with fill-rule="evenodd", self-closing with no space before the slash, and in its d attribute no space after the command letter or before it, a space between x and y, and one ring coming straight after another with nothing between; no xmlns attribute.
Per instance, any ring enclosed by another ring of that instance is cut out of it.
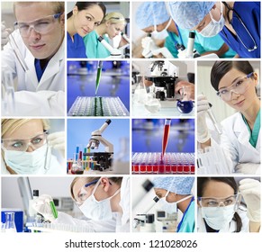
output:
<svg viewBox="0 0 262 252"><path fill-rule="evenodd" d="M250 78L253 76L254 73L250 73L247 76L238 78L232 85L229 87L221 88L217 95L221 97L224 101L230 101L231 99L231 92L235 94L244 94L248 89L248 82Z"/></svg>

